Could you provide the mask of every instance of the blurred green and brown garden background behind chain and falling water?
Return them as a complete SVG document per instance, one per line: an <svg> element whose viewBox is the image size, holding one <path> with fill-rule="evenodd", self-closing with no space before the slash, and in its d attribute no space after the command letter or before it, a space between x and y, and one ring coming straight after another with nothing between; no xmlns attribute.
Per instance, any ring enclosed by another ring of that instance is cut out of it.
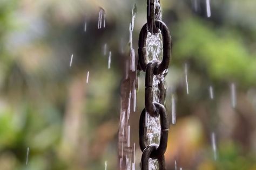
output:
<svg viewBox="0 0 256 170"><path fill-rule="evenodd" d="M134 3L137 56L146 1L0 1L0 169L98 170L105 168L105 161L107 169L118 168L120 83L129 56ZM205 1L161 0L173 40L166 77L169 116L172 94L177 101L177 123L170 126L165 154L167 169L174 169L175 160L183 169L256 169L256 1L210 3L207 17ZM100 7L106 12L106 27L99 30ZM144 73L137 95L130 119L131 143L136 146ZM140 155L137 147L137 169Z"/></svg>

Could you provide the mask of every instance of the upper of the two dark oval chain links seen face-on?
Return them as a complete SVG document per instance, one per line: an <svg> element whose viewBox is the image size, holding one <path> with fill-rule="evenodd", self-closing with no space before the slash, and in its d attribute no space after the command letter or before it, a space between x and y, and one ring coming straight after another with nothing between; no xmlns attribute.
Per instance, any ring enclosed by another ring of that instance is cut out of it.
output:
<svg viewBox="0 0 256 170"><path fill-rule="evenodd" d="M154 69L154 75L162 73L168 68L171 56L171 36L167 26L160 20L155 20L156 26L161 30L161 35L163 37L163 61ZM147 55L146 55L146 38L147 38L147 24L142 27L139 34L139 65L145 72L147 66Z"/></svg>

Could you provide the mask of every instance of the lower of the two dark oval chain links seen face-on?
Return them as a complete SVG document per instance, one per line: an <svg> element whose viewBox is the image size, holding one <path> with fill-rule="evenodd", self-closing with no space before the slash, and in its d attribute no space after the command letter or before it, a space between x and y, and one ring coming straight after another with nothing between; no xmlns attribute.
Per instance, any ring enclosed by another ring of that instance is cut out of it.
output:
<svg viewBox="0 0 256 170"><path fill-rule="evenodd" d="M160 124L161 124L161 134L160 134L160 142L158 147L155 151L152 151L150 158L157 159L161 155L164 155L167 147L167 140L168 140L168 132L169 132L169 123L166 114L166 110L164 105L160 103L154 103L157 108L157 112L160 115ZM142 111L139 119L139 146L140 150L144 151L146 148L146 125L145 125L145 116L146 110Z"/></svg>

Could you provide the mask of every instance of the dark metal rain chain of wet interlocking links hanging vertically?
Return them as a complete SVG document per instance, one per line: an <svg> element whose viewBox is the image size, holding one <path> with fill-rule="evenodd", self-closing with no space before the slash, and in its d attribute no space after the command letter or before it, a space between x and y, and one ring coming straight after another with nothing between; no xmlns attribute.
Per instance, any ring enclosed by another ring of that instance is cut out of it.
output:
<svg viewBox="0 0 256 170"><path fill-rule="evenodd" d="M160 8L155 8L156 0L147 0L147 23L142 27L139 34L139 67L146 72L145 77L145 109L142 111L139 120L139 145L142 150L141 169L149 169L149 159L158 159L159 169L166 170L164 153L167 147L167 139L169 132L169 123L167 119L166 109L164 106L166 90L164 88L163 80L158 84L160 91L159 103L153 102L153 75L164 74L165 70L169 67L171 56L171 36L170 32L161 20L156 19L155 12ZM147 31L152 34L158 33L160 30L163 38L163 60L152 60L147 62L146 54L146 38ZM151 144L146 146L146 131L147 125L145 122L146 112L152 117L160 116L160 141L159 145Z"/></svg>

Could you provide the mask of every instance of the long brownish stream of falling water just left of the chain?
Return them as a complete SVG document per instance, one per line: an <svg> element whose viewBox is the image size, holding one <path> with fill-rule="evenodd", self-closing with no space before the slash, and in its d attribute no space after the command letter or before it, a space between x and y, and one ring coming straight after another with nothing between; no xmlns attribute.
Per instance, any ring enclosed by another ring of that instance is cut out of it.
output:
<svg viewBox="0 0 256 170"><path fill-rule="evenodd" d="M130 114L131 110L136 110L136 90L137 90L137 65L135 52L132 47L132 33L134 27L134 19L136 16L136 5L132 9L132 19L129 25L129 49L130 53L124 60L124 80L121 83L121 111L118 132L118 156L119 169L131 170L135 168L135 145L131 146L130 140ZM122 42L123 43L123 42ZM122 44L121 43L121 44ZM121 51L124 53L123 46Z"/></svg>

